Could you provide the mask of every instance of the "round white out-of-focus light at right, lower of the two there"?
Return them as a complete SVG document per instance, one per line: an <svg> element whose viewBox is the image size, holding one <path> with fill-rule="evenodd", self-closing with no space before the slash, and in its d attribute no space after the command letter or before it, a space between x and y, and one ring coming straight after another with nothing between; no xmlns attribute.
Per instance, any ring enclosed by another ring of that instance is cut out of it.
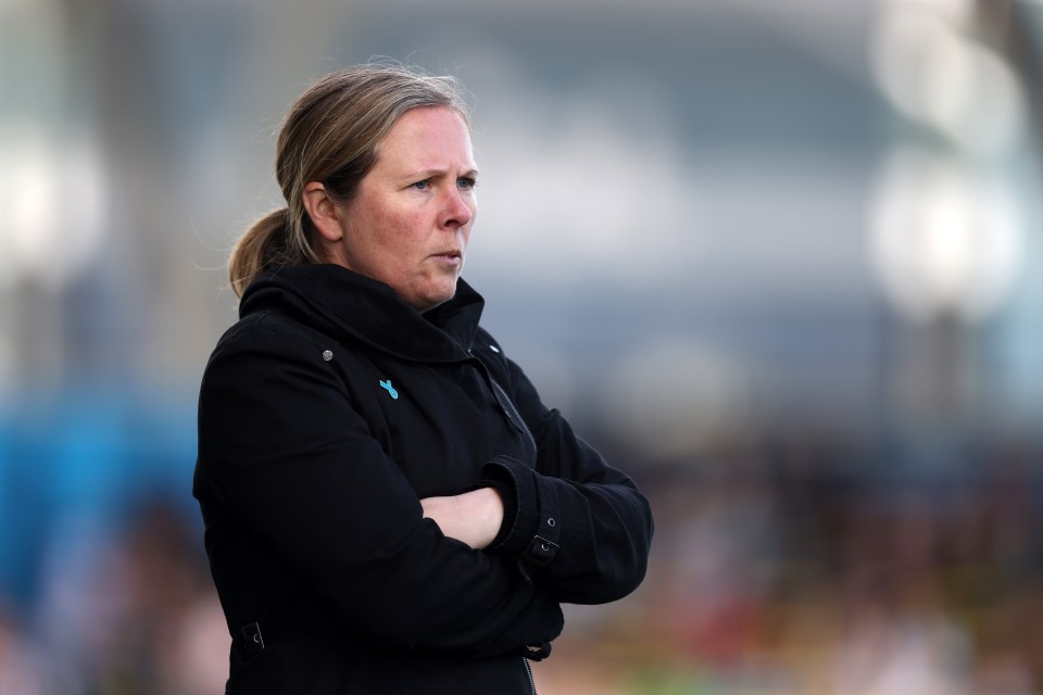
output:
<svg viewBox="0 0 1043 695"><path fill-rule="evenodd" d="M977 320L1007 296L1023 230L1009 192L984 174L896 152L870 211L871 257L887 295L906 315Z"/></svg>

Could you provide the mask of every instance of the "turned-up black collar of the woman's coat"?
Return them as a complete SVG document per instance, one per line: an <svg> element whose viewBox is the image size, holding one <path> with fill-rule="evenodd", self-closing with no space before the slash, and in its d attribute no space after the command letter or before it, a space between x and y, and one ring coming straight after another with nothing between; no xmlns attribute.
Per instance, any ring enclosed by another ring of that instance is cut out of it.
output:
<svg viewBox="0 0 1043 695"><path fill-rule="evenodd" d="M481 295L457 280L452 300L422 314L384 282L339 265L312 264L262 275L243 293L239 315L277 309L400 357L455 362L467 358L483 306Z"/></svg>

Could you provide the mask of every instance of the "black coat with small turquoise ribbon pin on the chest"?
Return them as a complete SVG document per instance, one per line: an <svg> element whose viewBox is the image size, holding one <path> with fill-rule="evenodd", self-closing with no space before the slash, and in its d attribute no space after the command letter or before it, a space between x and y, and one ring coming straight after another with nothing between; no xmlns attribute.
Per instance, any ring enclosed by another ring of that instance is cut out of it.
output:
<svg viewBox="0 0 1043 695"><path fill-rule="evenodd" d="M530 693L560 603L643 579L634 484L548 409L478 326L340 266L255 281L199 401L194 495L233 636L228 693ZM486 551L420 497L504 497ZM263 645L263 648L262 648Z"/></svg>

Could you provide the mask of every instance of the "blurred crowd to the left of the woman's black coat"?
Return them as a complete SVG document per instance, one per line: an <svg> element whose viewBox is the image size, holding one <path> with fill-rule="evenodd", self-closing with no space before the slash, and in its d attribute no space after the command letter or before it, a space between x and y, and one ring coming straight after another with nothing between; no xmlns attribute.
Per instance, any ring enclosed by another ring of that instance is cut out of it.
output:
<svg viewBox="0 0 1043 695"><path fill-rule="evenodd" d="M197 526L146 501L120 532L49 557L39 599L0 607L0 693L223 692L228 633Z"/></svg>

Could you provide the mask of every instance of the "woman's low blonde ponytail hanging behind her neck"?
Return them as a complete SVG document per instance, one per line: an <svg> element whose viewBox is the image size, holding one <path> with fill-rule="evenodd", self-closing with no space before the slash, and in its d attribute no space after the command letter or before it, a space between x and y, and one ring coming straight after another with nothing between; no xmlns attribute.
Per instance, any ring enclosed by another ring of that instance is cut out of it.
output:
<svg viewBox="0 0 1043 695"><path fill-rule="evenodd" d="M250 283L268 267L314 261L306 241L292 232L289 212L286 207L273 211L239 237L228 260L228 280L236 296L241 298Z"/></svg>

